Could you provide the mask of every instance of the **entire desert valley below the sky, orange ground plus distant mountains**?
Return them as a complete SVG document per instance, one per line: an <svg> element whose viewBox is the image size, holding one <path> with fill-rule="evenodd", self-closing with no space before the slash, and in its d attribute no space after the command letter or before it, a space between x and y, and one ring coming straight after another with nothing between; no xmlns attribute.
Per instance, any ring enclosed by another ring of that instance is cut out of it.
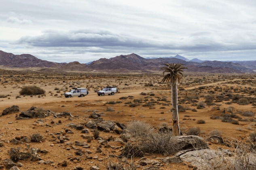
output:
<svg viewBox="0 0 256 170"><path fill-rule="evenodd" d="M0 54L0 169L256 167L253 62L130 54L81 64ZM171 135L171 85L161 82L159 71L167 62L188 68L178 85L178 138ZM108 85L118 93L98 96ZM20 93L33 86L44 93ZM89 94L64 97L78 87Z"/></svg>

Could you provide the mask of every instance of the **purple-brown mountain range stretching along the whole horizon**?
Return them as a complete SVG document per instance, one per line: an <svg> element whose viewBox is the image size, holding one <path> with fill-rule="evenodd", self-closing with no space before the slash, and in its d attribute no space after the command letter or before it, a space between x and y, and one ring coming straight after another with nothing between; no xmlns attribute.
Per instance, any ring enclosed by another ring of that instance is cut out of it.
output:
<svg viewBox="0 0 256 170"><path fill-rule="evenodd" d="M202 61L197 58L188 60L182 56L165 58L143 58L137 54L120 55L113 58L101 58L87 64L77 61L57 63L40 60L30 54L14 55L0 51L0 65L11 67L39 67L44 72L158 72L163 64L182 63L187 72L207 73L256 73L256 61L221 62Z"/></svg>

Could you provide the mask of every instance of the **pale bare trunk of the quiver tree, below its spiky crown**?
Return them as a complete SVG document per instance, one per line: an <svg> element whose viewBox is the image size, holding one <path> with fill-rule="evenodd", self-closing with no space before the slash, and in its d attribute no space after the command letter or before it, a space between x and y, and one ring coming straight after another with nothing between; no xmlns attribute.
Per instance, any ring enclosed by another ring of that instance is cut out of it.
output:
<svg viewBox="0 0 256 170"><path fill-rule="evenodd" d="M178 80L172 78L171 81L171 105L172 105L172 121L173 128L172 133L175 136L180 136L180 123L179 123L179 114L178 114Z"/></svg>

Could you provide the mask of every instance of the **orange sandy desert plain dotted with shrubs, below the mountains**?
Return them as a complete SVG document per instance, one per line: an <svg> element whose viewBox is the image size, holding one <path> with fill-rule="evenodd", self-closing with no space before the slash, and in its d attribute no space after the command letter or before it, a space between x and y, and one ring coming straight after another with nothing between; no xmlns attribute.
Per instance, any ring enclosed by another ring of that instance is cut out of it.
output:
<svg viewBox="0 0 256 170"><path fill-rule="evenodd" d="M39 148L47 153L39 153L44 162L19 160L19 169L93 169L104 170L109 163L118 163L118 156L127 141L123 141L116 131L99 131L99 136L108 140L108 145L100 140L81 137L84 133L67 125L85 125L86 135L93 136L93 129L86 127L95 112L104 121L113 121L129 126L133 121L150 124L153 130L172 127L171 86L161 83L159 73L42 73L24 70L0 70L0 114L13 105L19 112L0 116L0 165L6 168L4 160L10 158L11 148ZM115 95L98 96L97 91L107 85L116 86ZM37 86L45 91L42 95L20 95L25 86ZM89 94L85 97L64 97L72 88L85 87ZM178 86L180 130L186 135L190 129L200 129L198 136L205 139L211 149L234 151L237 145L252 143L250 133L256 128L256 79L253 74L210 74L184 73ZM32 106L54 113L70 112L72 116L45 118L16 118ZM39 120L40 119L40 120ZM70 129L72 133L65 133ZM12 139L43 136L43 141L12 143ZM63 134L64 133L64 134ZM216 143L209 137L218 133L225 143ZM67 140L60 143L58 136ZM111 137L112 136L112 137ZM89 147L75 145L85 142ZM254 140L255 143L255 140ZM99 146L100 145L100 146ZM108 146L108 147L106 147ZM97 150L100 148L101 150ZM82 154L78 155L77 151ZM165 163L161 158L171 154L146 153L143 159L157 160L159 164L136 165L138 170L193 169L189 162ZM81 157L80 159L73 159ZM145 158L146 157L146 158ZM131 158L127 158L130 160ZM134 162L142 157L133 157ZM49 162L47 162L49 161ZM66 161L66 166L62 166ZM121 161L122 162L122 161ZM119 162L120 164L120 162ZM125 163L121 163L125 164Z"/></svg>

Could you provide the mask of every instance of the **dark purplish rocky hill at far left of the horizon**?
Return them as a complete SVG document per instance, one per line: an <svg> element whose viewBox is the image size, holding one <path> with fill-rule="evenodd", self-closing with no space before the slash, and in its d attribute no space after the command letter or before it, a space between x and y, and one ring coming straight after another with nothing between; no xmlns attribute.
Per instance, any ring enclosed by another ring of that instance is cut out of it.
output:
<svg viewBox="0 0 256 170"><path fill-rule="evenodd" d="M40 60L30 54L15 55L12 53L3 52L0 50L0 65L12 67L59 67L66 63L50 62Z"/></svg>

